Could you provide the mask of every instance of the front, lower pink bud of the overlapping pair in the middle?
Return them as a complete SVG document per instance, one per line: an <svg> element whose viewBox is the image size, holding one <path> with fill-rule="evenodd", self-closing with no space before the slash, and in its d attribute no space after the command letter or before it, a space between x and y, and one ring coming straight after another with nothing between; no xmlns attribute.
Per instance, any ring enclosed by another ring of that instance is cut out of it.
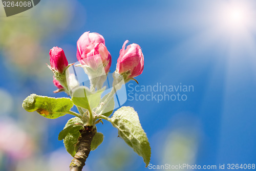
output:
<svg viewBox="0 0 256 171"><path fill-rule="evenodd" d="M108 73L111 66L111 55L102 42L90 42L81 57L77 59L81 65L87 65L94 70L103 65L105 73Z"/></svg>

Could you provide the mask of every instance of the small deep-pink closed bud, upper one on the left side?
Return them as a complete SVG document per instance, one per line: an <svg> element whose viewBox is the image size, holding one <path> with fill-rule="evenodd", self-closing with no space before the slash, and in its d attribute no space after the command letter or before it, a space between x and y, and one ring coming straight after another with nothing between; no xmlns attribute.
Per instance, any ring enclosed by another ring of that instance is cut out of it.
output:
<svg viewBox="0 0 256 171"><path fill-rule="evenodd" d="M62 73L69 65L64 51L61 48L53 47L49 54L51 67L57 72Z"/></svg>

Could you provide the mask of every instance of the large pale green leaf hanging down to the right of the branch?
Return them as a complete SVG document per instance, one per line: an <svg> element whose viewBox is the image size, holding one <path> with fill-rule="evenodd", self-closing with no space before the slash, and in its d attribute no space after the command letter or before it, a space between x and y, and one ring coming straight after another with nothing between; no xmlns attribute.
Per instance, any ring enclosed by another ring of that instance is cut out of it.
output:
<svg viewBox="0 0 256 171"><path fill-rule="evenodd" d="M123 106L113 114L111 122L118 129L118 135L143 157L147 167L150 163L151 147L137 112L130 106Z"/></svg>

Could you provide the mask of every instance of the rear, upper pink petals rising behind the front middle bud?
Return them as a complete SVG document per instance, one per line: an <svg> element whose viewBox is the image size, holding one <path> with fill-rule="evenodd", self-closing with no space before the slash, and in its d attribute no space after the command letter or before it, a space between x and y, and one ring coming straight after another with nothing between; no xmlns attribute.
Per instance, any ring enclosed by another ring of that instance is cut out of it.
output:
<svg viewBox="0 0 256 171"><path fill-rule="evenodd" d="M83 33L80 38L77 41L77 53L76 57L80 61L81 55L83 54L84 50L87 49L88 45L91 42L99 43L101 42L103 45L105 45L105 40L102 35L99 33L90 33L85 32Z"/></svg>

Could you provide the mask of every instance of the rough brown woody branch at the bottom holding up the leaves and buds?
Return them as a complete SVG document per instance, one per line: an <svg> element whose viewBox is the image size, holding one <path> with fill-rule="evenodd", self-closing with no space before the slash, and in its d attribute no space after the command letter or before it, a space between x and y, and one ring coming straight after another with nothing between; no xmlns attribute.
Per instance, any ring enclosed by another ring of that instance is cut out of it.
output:
<svg viewBox="0 0 256 171"><path fill-rule="evenodd" d="M86 162L91 151L91 143L93 136L96 133L96 129L93 126L84 126L84 130L80 130L81 138L79 147L77 149L76 155L70 164L70 171L81 171L82 167Z"/></svg>

